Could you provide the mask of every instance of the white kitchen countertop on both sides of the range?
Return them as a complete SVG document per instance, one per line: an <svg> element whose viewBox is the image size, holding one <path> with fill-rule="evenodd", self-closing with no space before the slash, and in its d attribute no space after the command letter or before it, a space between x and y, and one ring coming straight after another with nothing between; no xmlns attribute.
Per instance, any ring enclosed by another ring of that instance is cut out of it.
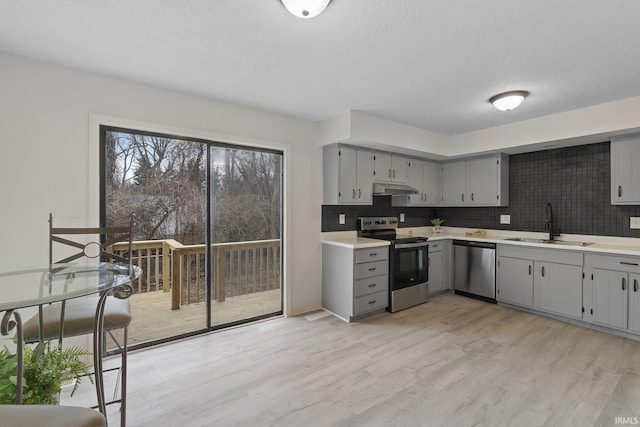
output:
<svg viewBox="0 0 640 427"><path fill-rule="evenodd" d="M572 242L590 242L588 246L567 246L553 245L549 243L518 242L505 240L510 237L523 237L530 239L546 239L547 233L529 233L526 231L508 230L483 230L485 237L468 236L467 232L474 232L477 229L460 227L442 227L440 233L433 233L432 227L407 227L397 230L399 235L428 237L430 241L459 239L473 240L478 242L500 243L505 245L527 246L553 250L568 250L580 252L594 252L613 255L640 256L640 239L632 237L610 237L610 236L589 236L578 234L563 234L556 240ZM388 246L389 242L384 240L367 239L358 237L356 231L337 231L322 233L322 243L337 245L352 249L362 249L376 246Z"/></svg>

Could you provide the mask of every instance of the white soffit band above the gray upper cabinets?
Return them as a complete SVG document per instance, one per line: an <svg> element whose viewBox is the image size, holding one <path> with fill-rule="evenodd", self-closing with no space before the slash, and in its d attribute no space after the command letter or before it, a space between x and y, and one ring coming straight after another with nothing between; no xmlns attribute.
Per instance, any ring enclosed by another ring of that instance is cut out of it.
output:
<svg viewBox="0 0 640 427"><path fill-rule="evenodd" d="M640 131L640 96L458 135L348 111L321 124L320 143L347 142L436 160L607 141Z"/></svg>

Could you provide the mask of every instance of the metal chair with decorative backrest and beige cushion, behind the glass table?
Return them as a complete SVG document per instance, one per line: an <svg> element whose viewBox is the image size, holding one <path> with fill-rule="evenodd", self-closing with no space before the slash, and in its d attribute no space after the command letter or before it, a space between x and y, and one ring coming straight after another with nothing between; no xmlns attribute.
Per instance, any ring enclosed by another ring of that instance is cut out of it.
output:
<svg viewBox="0 0 640 427"><path fill-rule="evenodd" d="M92 227L92 228L54 228L53 215L49 214L49 264L53 265L54 243L72 247L79 252L67 256L56 264L64 264L81 258L99 258L103 262L119 262L129 265L129 275L133 274L133 264L131 259L131 244L133 239L134 217L129 225L122 227ZM98 242L77 242L72 238L89 238L100 236ZM123 253L114 253L111 247L116 242L128 242L127 250ZM34 315L23 325L23 336L25 343L41 342L45 340L58 339L62 345L62 339L79 336L94 335L94 348L104 348L102 345L95 345L95 340L106 340L109 334L118 347L121 354L121 363L118 369L118 381L116 389L120 385L120 398L116 399L116 393L111 401L106 402L104 398L104 380L102 370L102 355L94 354L94 370L96 393L98 399L97 408L106 417L106 405L120 403L120 425L126 424L126 397L127 397L127 339L128 326L131 323L131 306L129 301L114 296L107 296L104 305L104 334L96 337L95 319L99 297L85 297L71 299L65 302L41 306L38 314ZM112 331L122 329L122 343L116 339ZM94 350L95 353L95 350Z"/></svg>

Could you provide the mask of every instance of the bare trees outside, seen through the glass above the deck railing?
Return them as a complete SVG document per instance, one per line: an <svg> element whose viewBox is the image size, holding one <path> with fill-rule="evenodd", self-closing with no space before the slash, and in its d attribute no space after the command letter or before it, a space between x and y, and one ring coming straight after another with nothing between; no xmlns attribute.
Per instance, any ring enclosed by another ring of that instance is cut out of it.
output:
<svg viewBox="0 0 640 427"><path fill-rule="evenodd" d="M205 241L207 150L213 242L280 237L279 154L107 131L108 225L136 214L136 240Z"/></svg>

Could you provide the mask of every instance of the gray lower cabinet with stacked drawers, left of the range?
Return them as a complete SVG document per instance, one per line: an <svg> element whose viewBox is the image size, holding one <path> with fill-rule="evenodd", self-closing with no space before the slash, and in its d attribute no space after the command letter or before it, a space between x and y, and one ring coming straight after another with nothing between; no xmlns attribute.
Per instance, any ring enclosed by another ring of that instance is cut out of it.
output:
<svg viewBox="0 0 640 427"><path fill-rule="evenodd" d="M349 322L387 307L389 247L322 245L322 307Z"/></svg>

